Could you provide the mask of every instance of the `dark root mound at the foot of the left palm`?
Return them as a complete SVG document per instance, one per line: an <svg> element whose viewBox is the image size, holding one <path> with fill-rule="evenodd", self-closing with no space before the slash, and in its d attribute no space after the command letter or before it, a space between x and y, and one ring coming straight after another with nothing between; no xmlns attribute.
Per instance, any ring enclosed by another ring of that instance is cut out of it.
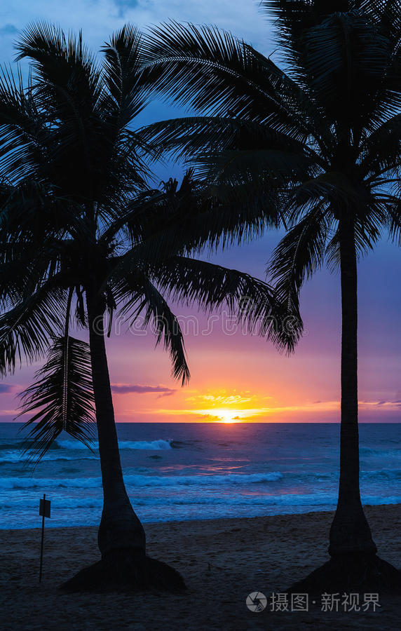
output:
<svg viewBox="0 0 401 631"><path fill-rule="evenodd" d="M185 590L184 579L168 564L133 550L113 554L78 572L60 586L63 592L126 592Z"/></svg>

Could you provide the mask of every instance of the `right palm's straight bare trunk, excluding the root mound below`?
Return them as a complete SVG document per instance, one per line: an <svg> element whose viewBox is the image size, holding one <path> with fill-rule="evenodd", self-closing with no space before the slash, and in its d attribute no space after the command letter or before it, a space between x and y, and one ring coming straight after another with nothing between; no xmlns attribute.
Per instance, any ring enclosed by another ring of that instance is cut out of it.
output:
<svg viewBox="0 0 401 631"><path fill-rule="evenodd" d="M358 437L358 295L355 234L352 220L339 222L341 257L341 439L340 482L330 529L330 555L376 552L363 512L359 487Z"/></svg>

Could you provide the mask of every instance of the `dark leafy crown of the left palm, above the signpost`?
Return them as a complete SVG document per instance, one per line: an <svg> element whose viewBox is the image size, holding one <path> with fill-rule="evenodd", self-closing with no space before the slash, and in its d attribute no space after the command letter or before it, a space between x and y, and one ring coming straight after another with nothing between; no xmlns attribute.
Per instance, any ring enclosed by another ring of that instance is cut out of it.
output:
<svg viewBox="0 0 401 631"><path fill-rule="evenodd" d="M191 175L178 191L172 183L164 191L149 189L154 154L131 129L148 98L140 72L141 38L125 27L104 47L99 66L81 36L66 38L55 27L33 26L18 44L19 57L32 62L32 85L25 89L9 75L1 82L2 374L14 369L18 357L38 358L53 337L50 365L57 364L62 379L58 334L68 336L72 304L76 324L88 325L83 294L93 285L110 325L114 311L131 323L140 315L144 325L154 321L157 340L164 340L173 374L183 384L189 369L182 332L166 297L197 301L206 309L226 303L234 308L251 297L262 318L273 313L276 303L266 283L189 257L196 242L186 224L210 212L208 203L200 206ZM267 320L265 332L274 336ZM79 344L76 356L83 357L85 348ZM33 402L39 405L38 388L44 396L39 384L33 399L32 389L25 394L29 409ZM88 418L88 409L81 412L67 416ZM34 420L47 419L43 414ZM66 428L56 422L63 414L54 416L46 440Z"/></svg>

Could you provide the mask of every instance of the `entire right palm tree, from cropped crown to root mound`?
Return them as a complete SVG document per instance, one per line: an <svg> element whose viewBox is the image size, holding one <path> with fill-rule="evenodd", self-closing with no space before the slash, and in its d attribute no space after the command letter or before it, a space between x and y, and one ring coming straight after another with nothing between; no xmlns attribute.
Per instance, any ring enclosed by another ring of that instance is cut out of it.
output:
<svg viewBox="0 0 401 631"><path fill-rule="evenodd" d="M288 232L269 273L290 313L299 311L306 278L325 261L339 266L341 442L332 559L297 589L390 584L400 575L376 556L360 500L357 262L383 231L400 243L401 6L261 6L275 20L281 67L214 27L172 22L151 29L149 82L202 116L155 123L142 137L156 137L209 179L226 209L220 235L241 240L284 224Z"/></svg>

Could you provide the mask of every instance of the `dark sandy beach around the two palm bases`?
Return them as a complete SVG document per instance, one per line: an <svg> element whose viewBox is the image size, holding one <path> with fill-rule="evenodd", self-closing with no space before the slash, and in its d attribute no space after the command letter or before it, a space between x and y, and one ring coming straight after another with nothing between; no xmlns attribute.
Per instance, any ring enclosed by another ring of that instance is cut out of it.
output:
<svg viewBox="0 0 401 631"><path fill-rule="evenodd" d="M401 566L400 505L366 508L379 555ZM57 585L98 558L93 527L46 530L38 582L40 530L1 530L1 628L4 630L245 630L348 628L398 630L400 599L379 596L370 611L271 610L271 594L327 559L332 513L147 524L149 555L182 572L184 594L64 595ZM261 591L261 613L245 605ZM361 596L362 600L362 596ZM289 607L290 608L290 607Z"/></svg>

